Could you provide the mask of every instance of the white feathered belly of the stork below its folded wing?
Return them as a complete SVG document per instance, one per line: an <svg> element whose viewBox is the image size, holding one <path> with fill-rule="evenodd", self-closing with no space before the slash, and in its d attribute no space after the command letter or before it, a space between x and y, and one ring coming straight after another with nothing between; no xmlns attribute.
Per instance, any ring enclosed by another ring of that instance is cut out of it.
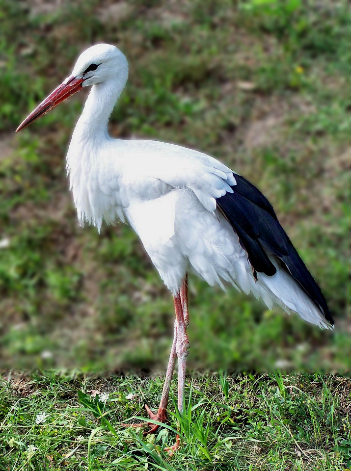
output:
<svg viewBox="0 0 351 471"><path fill-rule="evenodd" d="M211 286L223 286L223 281L236 284L237 279L243 291L251 290L252 270L237 235L218 211L205 209L191 190L174 189L152 201L135 200L126 217L173 293L179 291L189 269Z"/></svg>

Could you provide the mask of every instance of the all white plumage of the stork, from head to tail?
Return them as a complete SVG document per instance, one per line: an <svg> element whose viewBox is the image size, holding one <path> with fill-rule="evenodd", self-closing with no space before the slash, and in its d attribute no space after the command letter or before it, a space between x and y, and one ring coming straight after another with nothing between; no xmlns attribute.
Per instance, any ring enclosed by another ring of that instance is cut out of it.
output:
<svg viewBox="0 0 351 471"><path fill-rule="evenodd" d="M109 69L101 67L99 81L93 82L67 154L81 224L94 224L100 231L103 220L114 224L126 219L173 294L191 269L211 286L224 288L223 283L230 282L263 299L269 309L278 305L329 327L303 289L277 264L274 276L258 273L255 281L238 236L216 209L216 198L233 193L230 186L236 184L228 167L174 144L108 136L108 116L125 85L128 66L120 51L103 46L92 48L91 56L96 63L107 60ZM88 51L75 73L91 62Z"/></svg>

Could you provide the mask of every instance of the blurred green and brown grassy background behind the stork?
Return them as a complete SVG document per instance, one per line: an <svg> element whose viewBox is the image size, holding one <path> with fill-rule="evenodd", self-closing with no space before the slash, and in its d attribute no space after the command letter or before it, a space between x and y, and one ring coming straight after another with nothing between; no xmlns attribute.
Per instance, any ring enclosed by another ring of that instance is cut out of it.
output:
<svg viewBox="0 0 351 471"><path fill-rule="evenodd" d="M351 9L302 0L0 0L0 361L162 371L173 303L132 230L79 228L65 154L83 92L23 118L98 42L130 79L110 132L208 153L256 184L319 282L325 332L189 277L192 370L351 367Z"/></svg>

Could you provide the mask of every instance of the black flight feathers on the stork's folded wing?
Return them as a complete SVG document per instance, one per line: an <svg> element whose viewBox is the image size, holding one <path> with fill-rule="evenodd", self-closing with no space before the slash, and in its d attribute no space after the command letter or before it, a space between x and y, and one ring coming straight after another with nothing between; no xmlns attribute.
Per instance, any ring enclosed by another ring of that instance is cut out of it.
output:
<svg viewBox="0 0 351 471"><path fill-rule="evenodd" d="M268 254L285 263L292 277L321 308L326 320L334 324L323 293L302 262L288 235L280 225L267 198L241 175L234 174L234 193L217 199L219 209L237 233L254 270L272 276L276 268Z"/></svg>

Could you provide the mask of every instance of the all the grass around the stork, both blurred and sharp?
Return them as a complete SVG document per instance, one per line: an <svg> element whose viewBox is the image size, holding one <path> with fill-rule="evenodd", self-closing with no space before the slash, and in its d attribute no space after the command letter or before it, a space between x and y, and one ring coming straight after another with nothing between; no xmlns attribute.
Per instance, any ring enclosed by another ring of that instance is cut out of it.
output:
<svg viewBox="0 0 351 471"><path fill-rule="evenodd" d="M350 25L346 1L0 0L0 469L350 469L350 381L327 374L351 367ZM190 276L189 371L323 374L188 378L171 461L169 428L120 427L158 403L162 379L143 374L163 370L173 306L130 228L77 225L64 155L84 97L13 132L97 42L130 63L111 134L200 149L255 183L336 320L322 332Z"/></svg>

